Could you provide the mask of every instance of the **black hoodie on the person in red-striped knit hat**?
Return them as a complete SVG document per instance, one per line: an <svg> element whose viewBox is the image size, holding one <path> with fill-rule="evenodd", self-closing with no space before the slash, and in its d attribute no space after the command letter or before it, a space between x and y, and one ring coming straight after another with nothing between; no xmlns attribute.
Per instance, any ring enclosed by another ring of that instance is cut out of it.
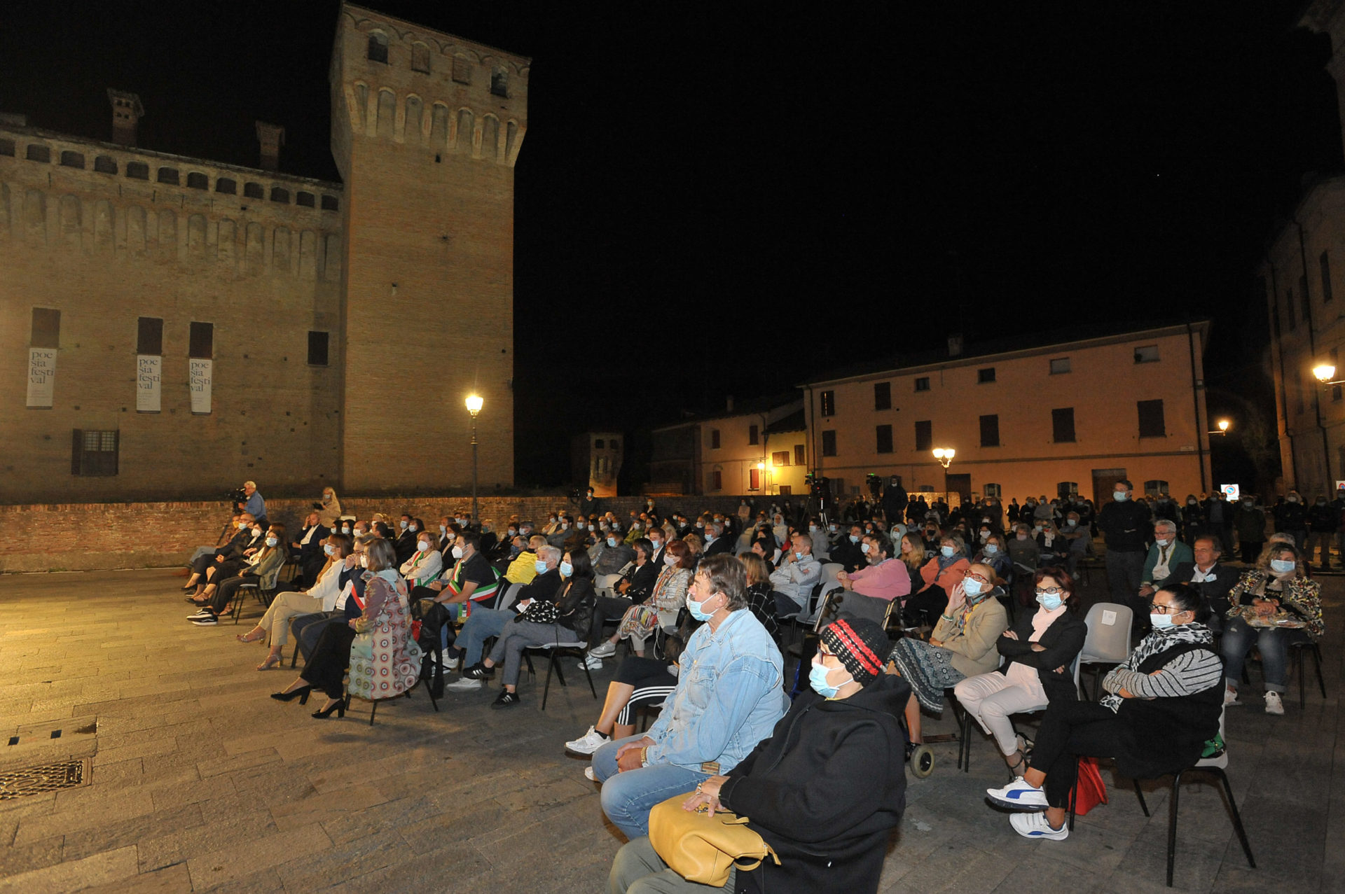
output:
<svg viewBox="0 0 1345 894"><path fill-rule="evenodd" d="M907 807L911 686L884 674L847 699L802 692L720 789L725 809L780 855L737 874L738 891L878 890L888 835Z"/></svg>

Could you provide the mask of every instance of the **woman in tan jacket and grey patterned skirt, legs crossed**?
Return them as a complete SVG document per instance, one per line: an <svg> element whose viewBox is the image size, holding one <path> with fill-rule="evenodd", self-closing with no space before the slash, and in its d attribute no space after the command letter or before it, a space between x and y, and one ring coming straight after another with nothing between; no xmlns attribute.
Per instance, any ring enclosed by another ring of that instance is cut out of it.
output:
<svg viewBox="0 0 1345 894"><path fill-rule="evenodd" d="M943 713L943 691L963 679L993 671L999 664L995 643L1009 628L1005 606L995 598L995 570L972 565L948 593L948 605L935 624L929 641L897 640L888 660L907 679L916 698L907 702L908 749L920 745L920 708Z"/></svg>

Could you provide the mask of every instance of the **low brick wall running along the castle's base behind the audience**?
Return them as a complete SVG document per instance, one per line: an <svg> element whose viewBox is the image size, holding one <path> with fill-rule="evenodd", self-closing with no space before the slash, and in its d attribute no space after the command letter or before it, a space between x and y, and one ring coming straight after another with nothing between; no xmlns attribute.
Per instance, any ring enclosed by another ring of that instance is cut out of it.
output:
<svg viewBox="0 0 1345 894"><path fill-rule="evenodd" d="M662 514L701 510L732 512L737 496L658 497ZM573 510L564 496L480 497L480 516L502 528L510 515L545 523L558 507ZM272 522L300 530L312 500L268 500ZM402 512L425 520L430 528L441 515L469 507L471 500L452 497L343 497L342 510L367 519L374 512ZM599 500L599 510L621 516L644 508L644 497ZM213 544L229 520L225 503L54 503L0 505L0 573L87 571L101 569L163 567L184 565L198 546Z"/></svg>

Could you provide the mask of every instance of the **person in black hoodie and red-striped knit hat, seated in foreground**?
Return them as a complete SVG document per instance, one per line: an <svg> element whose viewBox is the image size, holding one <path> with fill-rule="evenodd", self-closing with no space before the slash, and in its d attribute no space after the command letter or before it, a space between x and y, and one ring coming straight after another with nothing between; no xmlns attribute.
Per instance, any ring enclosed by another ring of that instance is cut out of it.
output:
<svg viewBox="0 0 1345 894"><path fill-rule="evenodd" d="M699 807L749 817L780 856L751 872L734 870L725 891L878 890L888 836L907 801L905 733L898 718L911 687L882 672L890 643L869 620L842 618L822 632L812 660L812 691L800 694L771 738L726 776L712 776L687 799ZM620 850L612 863L613 894L650 890L706 891L659 859L648 838ZM652 882L652 879L651 879Z"/></svg>

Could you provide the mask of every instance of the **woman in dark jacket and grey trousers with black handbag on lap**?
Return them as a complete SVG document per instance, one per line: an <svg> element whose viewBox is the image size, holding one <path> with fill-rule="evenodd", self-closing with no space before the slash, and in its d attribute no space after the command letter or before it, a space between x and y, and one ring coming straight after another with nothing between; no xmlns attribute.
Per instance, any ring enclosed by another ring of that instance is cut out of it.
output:
<svg viewBox="0 0 1345 894"><path fill-rule="evenodd" d="M519 703L518 675L523 664L523 649L546 643L585 641L593 621L593 565L584 550L566 551L561 557L561 577L564 583L554 598L554 621L533 621L529 614L539 618L547 616L538 612L538 604L529 604L523 613L504 625L499 639L491 648L490 657L463 671L464 678L488 680L495 676L495 667L503 664L504 687L491 707L512 707Z"/></svg>

